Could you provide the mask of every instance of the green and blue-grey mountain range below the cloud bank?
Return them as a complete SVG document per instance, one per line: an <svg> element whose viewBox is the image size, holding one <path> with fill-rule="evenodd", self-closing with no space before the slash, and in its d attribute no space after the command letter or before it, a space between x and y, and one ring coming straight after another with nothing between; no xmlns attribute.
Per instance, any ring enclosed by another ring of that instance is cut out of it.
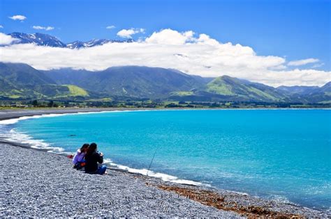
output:
<svg viewBox="0 0 331 219"><path fill-rule="evenodd" d="M325 86L273 88L230 76L214 79L160 67L122 66L99 72L41 71L20 63L0 63L0 99L161 99L199 102L331 102Z"/></svg>

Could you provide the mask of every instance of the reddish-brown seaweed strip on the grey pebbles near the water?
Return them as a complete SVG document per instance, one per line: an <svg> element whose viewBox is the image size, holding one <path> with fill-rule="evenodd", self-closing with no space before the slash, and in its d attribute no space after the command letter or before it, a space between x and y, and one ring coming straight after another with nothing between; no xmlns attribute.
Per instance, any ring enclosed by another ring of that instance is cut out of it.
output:
<svg viewBox="0 0 331 219"><path fill-rule="evenodd" d="M237 204L237 202L227 201L226 196L221 196L219 193L215 193L212 190L183 188L179 186L167 186L159 185L158 188L162 190L172 191L178 195L184 196L201 204L213 206L216 209L224 211L234 211L240 213L247 218L304 218L303 216L290 213L282 213L277 211L270 211L267 207L263 206L244 206Z"/></svg>

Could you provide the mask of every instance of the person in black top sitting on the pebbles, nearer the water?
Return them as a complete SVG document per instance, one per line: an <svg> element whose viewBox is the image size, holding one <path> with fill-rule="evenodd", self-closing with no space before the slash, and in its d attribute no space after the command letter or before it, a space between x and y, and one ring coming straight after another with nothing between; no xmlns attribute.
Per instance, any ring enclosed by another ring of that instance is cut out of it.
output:
<svg viewBox="0 0 331 219"><path fill-rule="evenodd" d="M103 153L96 150L96 143L91 143L85 154L85 172L103 175L107 169L105 165L98 167L98 163L103 163Z"/></svg>

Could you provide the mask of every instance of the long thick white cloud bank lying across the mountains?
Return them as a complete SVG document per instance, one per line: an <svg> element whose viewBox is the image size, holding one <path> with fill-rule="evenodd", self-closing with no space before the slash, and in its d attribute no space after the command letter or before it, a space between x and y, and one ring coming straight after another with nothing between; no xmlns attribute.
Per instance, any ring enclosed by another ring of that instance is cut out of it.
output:
<svg viewBox="0 0 331 219"><path fill-rule="evenodd" d="M170 40L171 39L171 40ZM286 59L259 56L251 47L221 43L206 34L165 29L145 40L108 43L85 49L13 44L0 47L0 61L27 63L40 70L73 67L105 70L120 65L173 68L200 76L229 75L270 86L321 86L331 81L331 72L286 70Z"/></svg>

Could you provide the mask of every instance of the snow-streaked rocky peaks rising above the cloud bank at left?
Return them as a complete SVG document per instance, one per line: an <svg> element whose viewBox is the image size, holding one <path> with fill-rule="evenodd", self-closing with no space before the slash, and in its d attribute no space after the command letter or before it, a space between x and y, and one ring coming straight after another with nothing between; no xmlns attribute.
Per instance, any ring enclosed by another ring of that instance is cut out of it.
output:
<svg viewBox="0 0 331 219"><path fill-rule="evenodd" d="M68 44L61 42L61 40L56 37L44 33L10 33L8 34L12 38L16 38L20 41L14 41L12 44L23 44L23 43L35 43L39 46L46 47L62 47L69 49L80 49L86 47L95 47L99 45L103 45L108 42L133 42L132 39L129 40L108 40L108 39L94 39L89 40L87 42L75 41Z"/></svg>

